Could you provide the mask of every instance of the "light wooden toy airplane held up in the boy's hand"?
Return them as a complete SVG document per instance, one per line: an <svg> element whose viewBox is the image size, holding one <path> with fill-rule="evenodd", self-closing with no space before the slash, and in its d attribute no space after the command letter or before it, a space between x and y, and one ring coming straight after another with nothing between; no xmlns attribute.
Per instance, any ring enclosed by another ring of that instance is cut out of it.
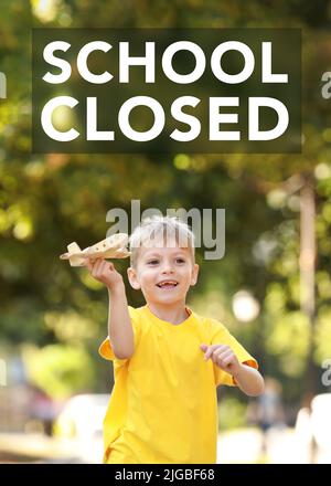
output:
<svg viewBox="0 0 331 486"><path fill-rule="evenodd" d="M68 260L71 266L85 266L86 258L126 258L130 255L127 250L128 235L126 233L116 233L93 246L81 250L76 242L67 245L67 253L60 255L61 260Z"/></svg>

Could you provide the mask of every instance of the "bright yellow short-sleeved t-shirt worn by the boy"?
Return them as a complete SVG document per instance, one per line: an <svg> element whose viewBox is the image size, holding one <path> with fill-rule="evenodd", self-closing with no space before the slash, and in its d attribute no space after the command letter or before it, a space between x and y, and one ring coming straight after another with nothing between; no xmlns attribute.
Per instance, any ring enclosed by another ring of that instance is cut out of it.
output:
<svg viewBox="0 0 331 486"><path fill-rule="evenodd" d="M114 356L109 338L99 353L114 361L114 389L104 421L105 463L214 464L218 384L231 374L203 359L200 345L228 345L241 362L256 360L217 320L190 316L173 325L148 306L129 307L135 336L130 359Z"/></svg>

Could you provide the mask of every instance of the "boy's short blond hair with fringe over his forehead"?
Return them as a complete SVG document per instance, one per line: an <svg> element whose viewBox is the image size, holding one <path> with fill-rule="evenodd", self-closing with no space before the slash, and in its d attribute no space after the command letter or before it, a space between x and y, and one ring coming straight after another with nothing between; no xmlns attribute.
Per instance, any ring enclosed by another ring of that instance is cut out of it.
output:
<svg viewBox="0 0 331 486"><path fill-rule="evenodd" d="M129 237L131 266L137 267L141 246L160 247L160 241L162 246L164 243L167 246L172 246L174 241L180 247L188 247L194 263L194 233L190 226L175 216L153 215L143 219Z"/></svg>

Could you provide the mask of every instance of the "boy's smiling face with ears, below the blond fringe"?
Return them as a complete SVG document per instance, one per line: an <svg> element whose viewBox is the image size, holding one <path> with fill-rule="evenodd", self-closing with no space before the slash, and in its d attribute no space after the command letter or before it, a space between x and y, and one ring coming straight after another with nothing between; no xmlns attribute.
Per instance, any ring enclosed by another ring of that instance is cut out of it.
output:
<svg viewBox="0 0 331 486"><path fill-rule="evenodd" d="M140 247L136 268L128 268L131 286L141 288L147 304L185 302L191 285L197 279L199 265L191 250L177 244Z"/></svg>

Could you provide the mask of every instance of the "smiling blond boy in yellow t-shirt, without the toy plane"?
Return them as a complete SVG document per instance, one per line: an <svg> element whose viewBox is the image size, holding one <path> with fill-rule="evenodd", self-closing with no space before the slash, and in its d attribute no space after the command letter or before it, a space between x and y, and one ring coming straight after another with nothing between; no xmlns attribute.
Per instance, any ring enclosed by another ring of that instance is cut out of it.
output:
<svg viewBox="0 0 331 486"><path fill-rule="evenodd" d="M175 218L145 220L130 237L128 278L146 305L128 307L113 263L88 262L109 292L108 337L115 384L104 422L108 464L216 462L216 387L263 392L255 359L217 320L185 305L195 285L194 236Z"/></svg>

